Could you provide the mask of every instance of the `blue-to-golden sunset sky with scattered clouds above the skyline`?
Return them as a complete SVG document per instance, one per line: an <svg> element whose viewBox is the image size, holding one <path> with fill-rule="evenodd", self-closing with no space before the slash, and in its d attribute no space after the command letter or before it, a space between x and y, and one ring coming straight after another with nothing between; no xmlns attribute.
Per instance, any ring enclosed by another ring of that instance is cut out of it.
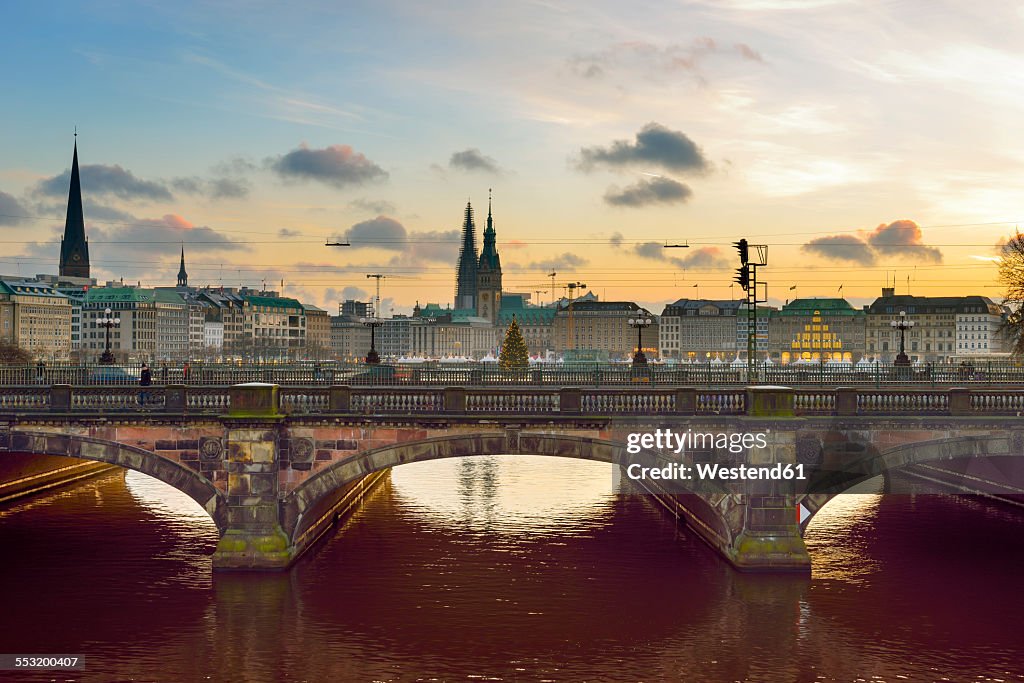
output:
<svg viewBox="0 0 1024 683"><path fill-rule="evenodd" d="M660 312L1000 300L1024 222L1024 4L5 3L0 272L55 272L73 136L93 275L336 310L454 300L467 201L504 289ZM328 241L350 247L327 247ZM687 245L670 248L666 245ZM550 276L555 272L554 278ZM554 291L552 291L554 283Z"/></svg>

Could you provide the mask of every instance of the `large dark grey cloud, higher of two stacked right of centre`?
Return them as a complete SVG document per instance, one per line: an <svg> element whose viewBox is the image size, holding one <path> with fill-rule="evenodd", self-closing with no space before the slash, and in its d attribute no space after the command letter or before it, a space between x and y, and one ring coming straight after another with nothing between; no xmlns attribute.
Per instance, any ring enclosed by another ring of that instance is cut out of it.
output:
<svg viewBox="0 0 1024 683"><path fill-rule="evenodd" d="M657 166L676 172L703 172L709 163L696 143L677 130L648 123L636 134L636 141L614 140L607 147L584 147L577 168L592 171L600 166L621 169Z"/></svg>

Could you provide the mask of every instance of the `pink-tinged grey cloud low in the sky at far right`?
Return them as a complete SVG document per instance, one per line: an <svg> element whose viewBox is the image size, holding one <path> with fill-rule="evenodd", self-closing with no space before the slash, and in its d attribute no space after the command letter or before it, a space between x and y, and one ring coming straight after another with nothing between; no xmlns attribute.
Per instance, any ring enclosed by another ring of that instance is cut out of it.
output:
<svg viewBox="0 0 1024 683"><path fill-rule="evenodd" d="M833 261L872 265L880 256L900 256L907 260L941 263L942 252L927 246L921 226L912 220L882 223L869 232L830 234L811 240L801 250Z"/></svg>

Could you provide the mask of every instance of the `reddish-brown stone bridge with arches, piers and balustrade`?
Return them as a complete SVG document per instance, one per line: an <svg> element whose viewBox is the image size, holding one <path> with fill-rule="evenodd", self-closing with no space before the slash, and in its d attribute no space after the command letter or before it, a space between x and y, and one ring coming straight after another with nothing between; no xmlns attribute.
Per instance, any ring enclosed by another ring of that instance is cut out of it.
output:
<svg viewBox="0 0 1024 683"><path fill-rule="evenodd" d="M833 496L908 465L1024 454L1024 392L1011 391L286 391L265 384L172 386L145 396L137 388L33 391L0 394L0 458L66 456L167 482L216 522L217 569L289 566L397 465L496 454L659 465L671 454L630 453L630 435L663 428L766 434L764 447L741 453L695 449L685 454L690 464L812 469L811 485L802 487L638 482L734 566L807 569L803 529Z"/></svg>

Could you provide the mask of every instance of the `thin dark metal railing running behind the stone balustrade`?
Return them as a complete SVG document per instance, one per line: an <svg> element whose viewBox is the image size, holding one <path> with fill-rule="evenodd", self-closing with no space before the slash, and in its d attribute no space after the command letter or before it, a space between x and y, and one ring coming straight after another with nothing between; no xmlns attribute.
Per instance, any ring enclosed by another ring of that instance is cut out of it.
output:
<svg viewBox="0 0 1024 683"><path fill-rule="evenodd" d="M741 387L751 383L745 367L731 364L648 365L538 364L505 370L497 364L454 365L303 362L234 365L196 362L151 366L156 385L224 386L269 382L281 386L466 386L466 387L620 387L649 386ZM137 385L139 365L36 365L0 367L0 386L131 386ZM794 387L840 386L1000 386L1024 385L1024 367L1015 362L949 362L913 367L886 364L772 365L758 368L757 383Z"/></svg>

